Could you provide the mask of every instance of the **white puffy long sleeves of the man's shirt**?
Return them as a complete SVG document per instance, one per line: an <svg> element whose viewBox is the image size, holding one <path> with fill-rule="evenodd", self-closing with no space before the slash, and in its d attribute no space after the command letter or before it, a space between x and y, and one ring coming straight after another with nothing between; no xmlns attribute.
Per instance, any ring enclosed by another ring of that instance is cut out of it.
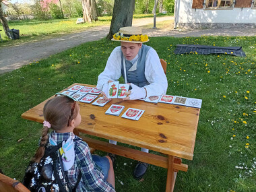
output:
<svg viewBox="0 0 256 192"><path fill-rule="evenodd" d="M104 71L98 75L97 88L99 90L102 90L108 80L117 81L121 77L121 54L123 54L121 53L121 46L117 46L108 57ZM145 77L150 83L150 85L144 86L147 90L147 98L166 94L168 87L166 75L158 54L153 48L146 55Z"/></svg>

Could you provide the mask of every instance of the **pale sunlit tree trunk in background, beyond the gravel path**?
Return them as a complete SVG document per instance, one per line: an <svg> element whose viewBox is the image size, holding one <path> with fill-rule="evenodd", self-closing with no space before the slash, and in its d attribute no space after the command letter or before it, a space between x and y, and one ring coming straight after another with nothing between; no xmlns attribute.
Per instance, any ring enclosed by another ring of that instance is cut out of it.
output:
<svg viewBox="0 0 256 192"><path fill-rule="evenodd" d="M83 18L85 22L97 21L97 8L95 0L82 0Z"/></svg>

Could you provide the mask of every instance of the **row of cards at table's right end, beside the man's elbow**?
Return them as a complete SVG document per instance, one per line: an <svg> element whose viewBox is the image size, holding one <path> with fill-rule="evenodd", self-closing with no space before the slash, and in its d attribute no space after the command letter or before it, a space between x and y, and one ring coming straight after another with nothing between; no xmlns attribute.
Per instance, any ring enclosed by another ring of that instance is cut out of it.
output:
<svg viewBox="0 0 256 192"><path fill-rule="evenodd" d="M202 100L197 98L187 98L181 96L169 96L162 95L158 102L164 102L168 104L179 104L184 106L192 106L195 108L201 108Z"/></svg>

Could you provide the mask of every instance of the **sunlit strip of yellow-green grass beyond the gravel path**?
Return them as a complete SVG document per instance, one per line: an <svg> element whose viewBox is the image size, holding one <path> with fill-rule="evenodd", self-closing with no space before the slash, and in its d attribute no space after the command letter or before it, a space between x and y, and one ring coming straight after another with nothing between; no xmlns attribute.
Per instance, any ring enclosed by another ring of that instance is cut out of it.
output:
<svg viewBox="0 0 256 192"><path fill-rule="evenodd" d="M166 15L173 14L158 14L158 17L163 17ZM134 19L139 18L152 18L152 14L137 14L133 15ZM1 46L9 46L13 44L21 44L28 41L42 40L46 38L53 38L63 34L69 34L73 32L79 32L86 30L86 28L95 27L95 26L110 26L112 17L98 17L98 21L84 24L76 24L77 18L69 19L55 19L55 20L19 20L19 21L10 21L8 22L9 28L15 28L20 30L20 39L11 40L3 31L3 26L0 26L1 36L3 42L0 43Z"/></svg>

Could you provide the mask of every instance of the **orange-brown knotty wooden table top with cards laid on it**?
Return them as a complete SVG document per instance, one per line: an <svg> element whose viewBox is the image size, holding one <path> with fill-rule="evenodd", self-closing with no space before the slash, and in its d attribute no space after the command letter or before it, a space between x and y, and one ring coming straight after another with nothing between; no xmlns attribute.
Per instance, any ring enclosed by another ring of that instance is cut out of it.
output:
<svg viewBox="0 0 256 192"><path fill-rule="evenodd" d="M95 87L75 83L67 89L74 85ZM44 121L42 108L45 102L46 100L23 113L22 118L42 123ZM111 104L125 106L118 117L105 115ZM143 100L123 101L118 98L112 99L103 107L84 102L79 102L79 106L82 122L76 129L80 132L179 158L193 159L199 108L160 102L156 104ZM129 107L145 110L139 121L121 117ZM92 118L93 115L95 118Z"/></svg>

